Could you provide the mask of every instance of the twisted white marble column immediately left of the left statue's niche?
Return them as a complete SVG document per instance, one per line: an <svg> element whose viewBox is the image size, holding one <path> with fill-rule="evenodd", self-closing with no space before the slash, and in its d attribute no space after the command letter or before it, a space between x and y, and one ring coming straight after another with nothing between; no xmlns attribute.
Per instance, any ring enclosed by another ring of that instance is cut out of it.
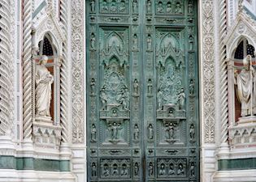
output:
<svg viewBox="0 0 256 182"><path fill-rule="evenodd" d="M32 138L32 0L23 2L23 134Z"/></svg>

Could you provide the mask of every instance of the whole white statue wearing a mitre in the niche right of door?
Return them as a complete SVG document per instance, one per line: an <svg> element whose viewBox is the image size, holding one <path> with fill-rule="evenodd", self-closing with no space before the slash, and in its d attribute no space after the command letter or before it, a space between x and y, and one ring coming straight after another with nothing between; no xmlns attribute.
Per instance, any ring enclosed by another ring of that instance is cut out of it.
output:
<svg viewBox="0 0 256 182"><path fill-rule="evenodd" d="M237 99L241 103L241 116L254 115L256 84L254 81L255 70L251 65L252 57L247 55L244 58L244 68L238 74L235 70L235 84Z"/></svg>

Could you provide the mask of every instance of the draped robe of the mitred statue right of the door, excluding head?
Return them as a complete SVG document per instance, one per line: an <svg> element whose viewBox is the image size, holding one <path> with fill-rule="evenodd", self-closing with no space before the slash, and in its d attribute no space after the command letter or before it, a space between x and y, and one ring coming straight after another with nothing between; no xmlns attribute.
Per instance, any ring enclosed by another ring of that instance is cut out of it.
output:
<svg viewBox="0 0 256 182"><path fill-rule="evenodd" d="M237 90L236 95L241 102L241 116L248 116L251 114L251 107L255 106L255 82L254 74L251 70L241 70L236 78ZM253 99L251 99L253 96ZM251 104L251 101L253 103ZM254 114L254 112L253 112Z"/></svg>

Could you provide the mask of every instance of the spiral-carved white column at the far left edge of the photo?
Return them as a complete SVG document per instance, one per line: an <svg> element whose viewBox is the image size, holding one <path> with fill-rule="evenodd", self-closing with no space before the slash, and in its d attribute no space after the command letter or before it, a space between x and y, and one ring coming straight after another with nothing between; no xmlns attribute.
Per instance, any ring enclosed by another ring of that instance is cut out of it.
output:
<svg viewBox="0 0 256 182"><path fill-rule="evenodd" d="M0 136L11 129L11 1L0 6Z"/></svg>

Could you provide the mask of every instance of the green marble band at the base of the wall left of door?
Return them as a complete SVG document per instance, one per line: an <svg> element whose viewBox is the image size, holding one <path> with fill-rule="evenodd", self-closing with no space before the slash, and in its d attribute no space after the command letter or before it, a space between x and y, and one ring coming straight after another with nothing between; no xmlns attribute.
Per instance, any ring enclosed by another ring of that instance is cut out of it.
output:
<svg viewBox="0 0 256 182"><path fill-rule="evenodd" d="M35 171L70 171L69 160L15 158L0 156L0 169Z"/></svg>

